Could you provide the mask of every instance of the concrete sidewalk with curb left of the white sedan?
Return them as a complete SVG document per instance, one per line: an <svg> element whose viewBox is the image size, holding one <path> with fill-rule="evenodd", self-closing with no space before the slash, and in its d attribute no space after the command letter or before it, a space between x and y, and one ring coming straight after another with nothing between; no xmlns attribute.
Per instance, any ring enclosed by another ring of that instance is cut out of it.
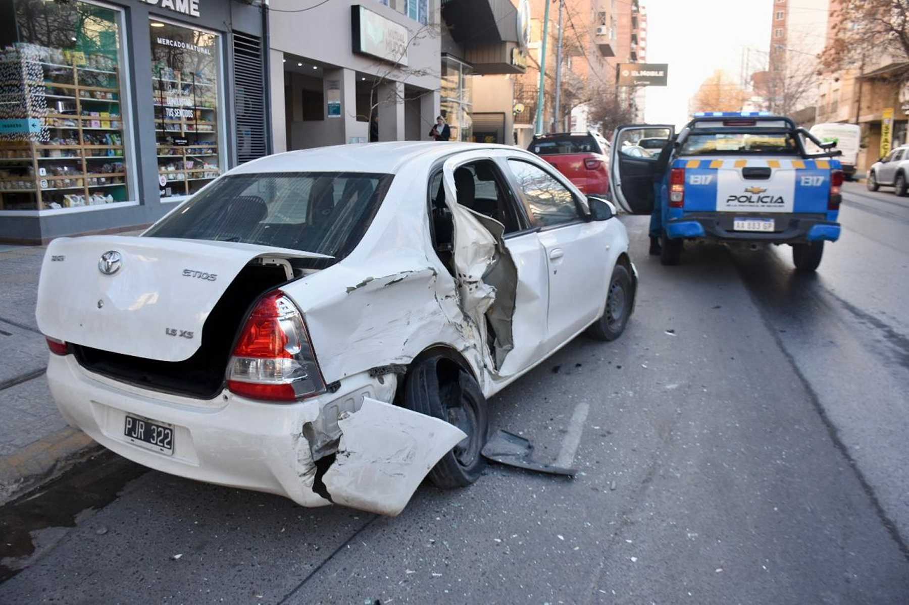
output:
<svg viewBox="0 0 909 605"><path fill-rule="evenodd" d="M0 248L0 504L54 478L97 446L66 425L45 378L47 346L35 322L45 248Z"/></svg>

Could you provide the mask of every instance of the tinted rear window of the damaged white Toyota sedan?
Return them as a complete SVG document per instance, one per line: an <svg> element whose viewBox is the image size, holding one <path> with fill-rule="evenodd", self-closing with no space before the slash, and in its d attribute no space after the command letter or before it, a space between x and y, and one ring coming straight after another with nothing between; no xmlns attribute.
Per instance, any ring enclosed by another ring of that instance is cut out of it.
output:
<svg viewBox="0 0 909 605"><path fill-rule="evenodd" d="M258 243L340 259L363 237L392 179L364 173L228 175L145 235Z"/></svg>

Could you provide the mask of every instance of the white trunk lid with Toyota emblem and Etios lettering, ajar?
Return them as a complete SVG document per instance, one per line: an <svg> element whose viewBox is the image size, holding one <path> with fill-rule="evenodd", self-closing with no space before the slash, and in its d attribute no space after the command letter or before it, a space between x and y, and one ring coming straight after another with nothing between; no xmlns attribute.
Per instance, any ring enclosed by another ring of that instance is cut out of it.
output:
<svg viewBox="0 0 909 605"><path fill-rule="evenodd" d="M162 362L191 357L209 313L257 258L330 258L249 243L156 237L58 238L35 316L47 336Z"/></svg>

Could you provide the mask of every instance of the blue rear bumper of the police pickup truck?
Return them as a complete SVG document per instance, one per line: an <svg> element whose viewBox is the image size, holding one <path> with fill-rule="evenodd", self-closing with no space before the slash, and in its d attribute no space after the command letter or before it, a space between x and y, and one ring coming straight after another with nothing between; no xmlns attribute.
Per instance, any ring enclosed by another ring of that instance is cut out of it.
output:
<svg viewBox="0 0 909 605"><path fill-rule="evenodd" d="M734 231L735 218L772 218L774 232ZM670 239L703 238L714 241L740 241L749 243L808 243L827 240L835 242L840 237L840 225L828 221L824 214L799 213L686 213L681 218L666 223Z"/></svg>

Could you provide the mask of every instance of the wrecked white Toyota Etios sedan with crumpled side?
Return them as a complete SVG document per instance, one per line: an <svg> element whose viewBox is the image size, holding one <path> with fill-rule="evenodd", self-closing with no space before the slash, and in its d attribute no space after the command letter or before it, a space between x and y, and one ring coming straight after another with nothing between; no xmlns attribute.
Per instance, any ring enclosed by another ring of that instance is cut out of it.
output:
<svg viewBox="0 0 909 605"><path fill-rule="evenodd" d="M395 515L479 476L486 398L580 332L634 266L610 203L514 147L290 152L139 237L48 246L37 321L60 412L145 466Z"/></svg>

